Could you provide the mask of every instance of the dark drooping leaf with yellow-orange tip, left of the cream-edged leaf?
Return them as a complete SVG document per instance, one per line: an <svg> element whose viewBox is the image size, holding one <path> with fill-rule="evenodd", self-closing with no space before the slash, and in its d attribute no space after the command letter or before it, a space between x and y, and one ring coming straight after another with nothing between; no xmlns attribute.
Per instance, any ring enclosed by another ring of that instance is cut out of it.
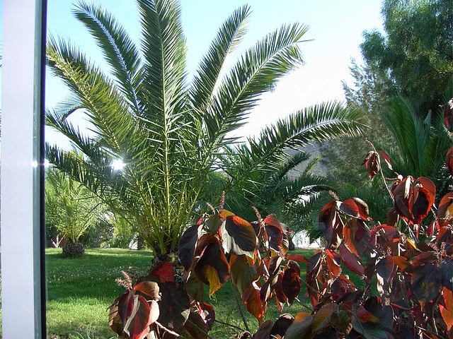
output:
<svg viewBox="0 0 453 339"><path fill-rule="evenodd" d="M212 234L203 235L195 250L195 257L197 261L193 271L202 283L210 286L211 296L224 285L230 273L219 239Z"/></svg>

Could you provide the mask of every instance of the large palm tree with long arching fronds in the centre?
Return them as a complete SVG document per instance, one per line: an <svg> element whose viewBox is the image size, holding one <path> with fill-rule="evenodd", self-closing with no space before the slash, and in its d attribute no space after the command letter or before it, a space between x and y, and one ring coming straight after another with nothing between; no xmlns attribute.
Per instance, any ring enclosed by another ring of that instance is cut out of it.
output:
<svg viewBox="0 0 453 339"><path fill-rule="evenodd" d="M47 125L64 133L84 154L81 160L47 145L47 157L85 184L122 215L156 252L176 248L193 218L200 191L223 168L221 155L237 143L231 132L245 124L259 96L302 64L299 43L307 28L283 25L242 54L231 69L226 59L246 32L250 9L243 6L224 22L192 81L185 70L180 6L173 0L137 0L142 44L103 8L80 2L74 11L102 49L111 76L91 64L81 49L50 38L47 62L72 97L47 114ZM67 117L84 109L91 138ZM285 149L309 141L359 133L360 112L338 104L296 112L232 152L251 155L246 172L230 178L230 190L248 172L270 172ZM121 159L122 171L111 163ZM273 165L274 164L274 165Z"/></svg>

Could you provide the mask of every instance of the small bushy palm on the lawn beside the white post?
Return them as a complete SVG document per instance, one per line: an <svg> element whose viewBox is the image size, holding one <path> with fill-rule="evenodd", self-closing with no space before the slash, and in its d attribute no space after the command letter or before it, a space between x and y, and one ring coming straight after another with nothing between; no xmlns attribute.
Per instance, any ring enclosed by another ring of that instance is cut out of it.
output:
<svg viewBox="0 0 453 339"><path fill-rule="evenodd" d="M63 252L83 254L80 237L102 218L105 206L84 185L58 169L49 169L45 180L46 224L56 227L67 245Z"/></svg>

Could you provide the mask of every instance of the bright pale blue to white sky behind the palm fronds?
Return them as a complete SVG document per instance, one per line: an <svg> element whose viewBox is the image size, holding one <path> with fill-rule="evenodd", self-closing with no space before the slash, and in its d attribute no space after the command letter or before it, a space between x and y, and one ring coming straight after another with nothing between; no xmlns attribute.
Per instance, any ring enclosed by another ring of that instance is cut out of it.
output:
<svg viewBox="0 0 453 339"><path fill-rule="evenodd" d="M113 13L132 40L139 43L139 13L134 0L96 2ZM75 3L48 0L47 34L69 38L108 72L93 38L71 13ZM359 45L362 32L382 30L379 0L180 0L180 4L188 44L189 74L195 73L198 61L207 51L219 26L234 9L244 4L251 7L252 15L243 49L284 23L299 22L310 27L304 39L312 41L300 45L304 66L285 76L272 93L263 95L260 105L249 115L248 124L236 131L237 136L256 135L266 124L317 102L344 100L342 81L353 84L349 66L351 58L361 61ZM46 106L51 108L64 100L69 92L50 73L47 73L46 82ZM84 124L81 117L74 119ZM52 143L64 143L48 129L46 138Z"/></svg>

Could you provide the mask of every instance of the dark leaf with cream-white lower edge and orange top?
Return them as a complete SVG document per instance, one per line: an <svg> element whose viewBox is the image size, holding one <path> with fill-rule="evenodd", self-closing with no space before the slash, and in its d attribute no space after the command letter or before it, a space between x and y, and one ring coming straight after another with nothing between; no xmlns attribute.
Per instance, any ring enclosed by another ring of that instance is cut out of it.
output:
<svg viewBox="0 0 453 339"><path fill-rule="evenodd" d="M250 258L255 255L257 238L250 222L236 215L229 215L220 227L222 232L222 246L226 253L241 255Z"/></svg>

